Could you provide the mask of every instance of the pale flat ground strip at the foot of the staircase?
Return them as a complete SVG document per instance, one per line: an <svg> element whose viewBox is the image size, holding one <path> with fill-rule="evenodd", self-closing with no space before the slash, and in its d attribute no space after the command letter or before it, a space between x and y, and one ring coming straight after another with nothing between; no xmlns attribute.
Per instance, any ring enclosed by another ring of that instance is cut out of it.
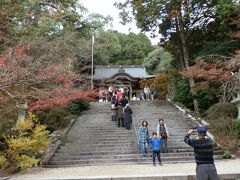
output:
<svg viewBox="0 0 240 180"><path fill-rule="evenodd" d="M240 159L217 161L218 174L239 174ZM35 168L25 174L10 177L20 179L100 179L121 177L163 177L195 175L194 163L152 165L105 165L66 168Z"/></svg>

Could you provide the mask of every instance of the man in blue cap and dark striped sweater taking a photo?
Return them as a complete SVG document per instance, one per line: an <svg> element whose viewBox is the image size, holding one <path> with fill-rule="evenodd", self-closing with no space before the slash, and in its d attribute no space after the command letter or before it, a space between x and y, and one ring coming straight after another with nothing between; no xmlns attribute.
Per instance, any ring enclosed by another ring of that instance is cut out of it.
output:
<svg viewBox="0 0 240 180"><path fill-rule="evenodd" d="M198 133L197 138L190 138L195 131ZM206 133L205 127L190 129L184 137L184 142L194 148L197 180L219 180L213 159L214 143L206 136Z"/></svg>

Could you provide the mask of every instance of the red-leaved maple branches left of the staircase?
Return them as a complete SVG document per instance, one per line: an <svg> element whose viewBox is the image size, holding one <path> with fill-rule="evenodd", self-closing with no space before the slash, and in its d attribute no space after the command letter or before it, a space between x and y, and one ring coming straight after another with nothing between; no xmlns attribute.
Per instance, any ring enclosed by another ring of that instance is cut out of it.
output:
<svg viewBox="0 0 240 180"><path fill-rule="evenodd" d="M0 100L28 100L29 111L55 105L66 106L74 99L94 101L96 93L74 86L81 80L68 61L37 61L27 45L8 49L0 58Z"/></svg>

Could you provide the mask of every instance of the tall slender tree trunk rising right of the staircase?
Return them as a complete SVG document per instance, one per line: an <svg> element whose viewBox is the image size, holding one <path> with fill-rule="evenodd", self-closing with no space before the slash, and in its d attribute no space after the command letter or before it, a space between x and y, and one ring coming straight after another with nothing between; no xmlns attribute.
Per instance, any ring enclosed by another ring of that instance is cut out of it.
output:
<svg viewBox="0 0 240 180"><path fill-rule="evenodd" d="M182 14L181 14L181 11L179 11L179 12L180 12L180 15L179 15L179 17L178 17L178 25L179 25L180 42L181 42L182 50L183 50L183 57L184 57L185 68L188 68L188 67L189 67L189 54L188 54L188 49L187 49L186 37L185 37L185 34L184 34ZM190 84L191 92L192 92L192 94L193 94L193 106L194 106L194 111L195 111L196 113L199 113L198 101L197 101L197 99L194 97L195 93L192 91L192 89L193 89L193 87L194 87L194 85L195 85L195 82L194 82L194 79L193 79L193 78L190 78L190 79L189 79L189 84Z"/></svg>

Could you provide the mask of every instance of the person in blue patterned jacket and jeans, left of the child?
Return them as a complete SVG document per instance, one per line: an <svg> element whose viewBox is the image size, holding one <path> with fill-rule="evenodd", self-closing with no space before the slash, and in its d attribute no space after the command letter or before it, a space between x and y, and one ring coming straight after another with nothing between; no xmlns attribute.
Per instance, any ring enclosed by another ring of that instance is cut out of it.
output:
<svg viewBox="0 0 240 180"><path fill-rule="evenodd" d="M140 153L142 157L147 157L147 145L148 145L149 133L148 122L144 120L142 126L138 130L138 141L140 145Z"/></svg>

